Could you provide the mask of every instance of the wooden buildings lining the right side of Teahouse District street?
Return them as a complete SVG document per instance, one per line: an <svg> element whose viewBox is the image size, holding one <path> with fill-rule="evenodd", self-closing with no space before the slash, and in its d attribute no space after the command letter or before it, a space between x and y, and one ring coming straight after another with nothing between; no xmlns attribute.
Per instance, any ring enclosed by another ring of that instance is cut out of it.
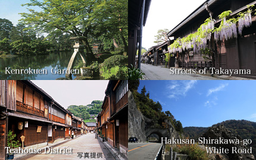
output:
<svg viewBox="0 0 256 160"><path fill-rule="evenodd" d="M128 151L128 82L110 81L98 115L99 133L111 146L127 155Z"/></svg>

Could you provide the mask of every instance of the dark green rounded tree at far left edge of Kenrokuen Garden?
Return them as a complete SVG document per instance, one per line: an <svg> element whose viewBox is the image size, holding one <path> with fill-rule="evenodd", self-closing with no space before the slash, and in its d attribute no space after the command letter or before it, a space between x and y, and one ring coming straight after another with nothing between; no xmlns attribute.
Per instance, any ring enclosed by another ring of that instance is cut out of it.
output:
<svg viewBox="0 0 256 160"><path fill-rule="evenodd" d="M11 28L13 28L13 23L10 20L0 18L0 40L10 39Z"/></svg>

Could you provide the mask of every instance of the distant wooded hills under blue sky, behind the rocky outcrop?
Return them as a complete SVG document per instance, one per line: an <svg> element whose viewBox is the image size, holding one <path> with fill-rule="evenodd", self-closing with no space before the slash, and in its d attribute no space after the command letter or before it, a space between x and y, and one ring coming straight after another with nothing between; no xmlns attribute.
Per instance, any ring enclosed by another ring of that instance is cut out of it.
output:
<svg viewBox="0 0 256 160"><path fill-rule="evenodd" d="M242 139L251 139L252 152L256 156L256 122L248 120L226 120L221 123L214 124L213 126L223 125L229 129L233 134L239 135ZM208 127L184 127L184 135L190 139L198 139L203 133L206 132Z"/></svg>

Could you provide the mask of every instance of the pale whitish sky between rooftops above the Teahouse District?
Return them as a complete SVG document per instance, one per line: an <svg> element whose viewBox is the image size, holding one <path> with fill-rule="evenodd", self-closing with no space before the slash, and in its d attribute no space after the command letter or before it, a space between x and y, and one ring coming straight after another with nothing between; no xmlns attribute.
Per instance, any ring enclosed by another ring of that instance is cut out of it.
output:
<svg viewBox="0 0 256 160"><path fill-rule="evenodd" d="M88 105L93 100L104 100L107 80L32 81L54 98L57 103L67 108L69 105Z"/></svg>

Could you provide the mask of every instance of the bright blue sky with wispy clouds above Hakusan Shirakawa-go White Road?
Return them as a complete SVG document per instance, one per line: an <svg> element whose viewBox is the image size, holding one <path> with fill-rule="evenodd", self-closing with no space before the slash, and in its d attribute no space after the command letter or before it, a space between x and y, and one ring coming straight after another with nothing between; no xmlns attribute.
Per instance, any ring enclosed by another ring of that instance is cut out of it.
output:
<svg viewBox="0 0 256 160"><path fill-rule="evenodd" d="M140 81L138 92L144 85L183 127L256 121L256 81Z"/></svg>

